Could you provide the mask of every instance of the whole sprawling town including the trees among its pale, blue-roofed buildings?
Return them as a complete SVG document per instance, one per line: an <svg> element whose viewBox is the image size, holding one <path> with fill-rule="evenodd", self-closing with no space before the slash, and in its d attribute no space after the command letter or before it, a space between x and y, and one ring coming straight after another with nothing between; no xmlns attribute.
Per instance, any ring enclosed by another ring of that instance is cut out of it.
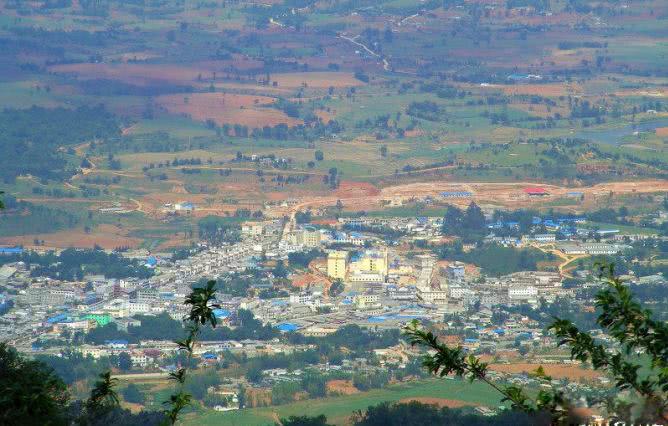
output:
<svg viewBox="0 0 668 426"><path fill-rule="evenodd" d="M527 188L524 196L541 197L543 191ZM188 313L186 296L193 286L214 279L215 315L223 329L199 343L198 363L247 368L224 383L204 382L211 386L200 398L213 409L266 404L256 395L263 390L266 400L284 403L293 397L295 383L303 385L314 374L325 385L311 397L424 377L419 349L400 336L413 320L432 324L449 344L494 359L497 380L530 385L533 379L513 363L573 363L555 353L545 327L559 309L580 311L583 320L591 316L591 298L583 295L600 285L592 259L637 262L641 247L666 248L662 195L656 196L656 211L634 218L649 225L642 232L592 226L601 211L546 216L483 210L471 196L444 192L405 200L443 205L442 217L341 214L340 202L282 218L263 215L235 229L217 228L223 238L216 243L203 240L173 253L2 248L0 337L32 355L77 353L78 362L112 362L119 377L159 380L182 362L173 340ZM453 198L469 204L459 209L448 204ZM618 222L630 217L624 208L612 214ZM68 262L82 254L81 262L92 256L91 264L120 263L125 269L119 275L119 268L108 267L114 277L87 273L85 264L69 271ZM666 284L661 272L629 270L624 279L639 286ZM309 356L322 353L324 342L345 344L342 339L360 332L366 341L351 342L352 353L333 347L324 363ZM356 353L361 355L351 356ZM609 388L607 377L571 368L576 374L564 377L573 379L567 383L574 395Z"/></svg>

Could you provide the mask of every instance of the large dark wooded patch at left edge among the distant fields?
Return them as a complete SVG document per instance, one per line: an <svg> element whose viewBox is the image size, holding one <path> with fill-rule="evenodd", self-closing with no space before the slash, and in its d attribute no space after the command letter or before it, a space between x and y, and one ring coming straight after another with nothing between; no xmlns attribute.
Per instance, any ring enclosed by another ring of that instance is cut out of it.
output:
<svg viewBox="0 0 668 426"><path fill-rule="evenodd" d="M0 134L1 179L11 182L30 174L62 180L74 170L67 167L61 146L117 137L120 129L114 116L101 106L74 110L32 107L0 112Z"/></svg>

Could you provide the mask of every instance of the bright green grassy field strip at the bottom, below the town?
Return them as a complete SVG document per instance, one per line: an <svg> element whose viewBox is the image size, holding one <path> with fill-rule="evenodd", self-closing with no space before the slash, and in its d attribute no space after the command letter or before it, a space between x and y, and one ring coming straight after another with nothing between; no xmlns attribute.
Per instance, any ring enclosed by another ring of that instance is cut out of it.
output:
<svg viewBox="0 0 668 426"><path fill-rule="evenodd" d="M370 405L383 401L400 401L407 398L445 398L456 399L471 404L496 407L500 398L496 391L485 384L468 383L461 380L427 380L418 383L389 386L382 390L373 390L357 395L322 398L295 402L276 407L251 408L227 413L207 411L190 417L186 425L216 426L265 426L272 425L276 416L289 417L296 415L327 416L329 422L345 424L348 417L356 410L365 410Z"/></svg>

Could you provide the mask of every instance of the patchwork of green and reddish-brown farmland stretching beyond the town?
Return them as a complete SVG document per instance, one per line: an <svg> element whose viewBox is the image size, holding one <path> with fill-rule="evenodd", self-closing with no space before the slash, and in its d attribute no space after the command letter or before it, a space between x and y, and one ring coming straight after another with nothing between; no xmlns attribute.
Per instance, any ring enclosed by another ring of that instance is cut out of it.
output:
<svg viewBox="0 0 668 426"><path fill-rule="evenodd" d="M15 3L0 1L0 36L18 46L0 52L0 106L100 106L117 128L49 148L67 165L57 178L3 176L12 197L92 218L21 237L0 227L2 244L171 249L206 215L281 217L270 204L285 200L387 214L396 199L413 203L397 214L440 214L445 201L412 199L469 188L490 209L577 213L666 190L659 0L594 15L563 1L483 14L414 1ZM170 222L165 204L185 202L192 215ZM132 215L101 213L116 205Z"/></svg>

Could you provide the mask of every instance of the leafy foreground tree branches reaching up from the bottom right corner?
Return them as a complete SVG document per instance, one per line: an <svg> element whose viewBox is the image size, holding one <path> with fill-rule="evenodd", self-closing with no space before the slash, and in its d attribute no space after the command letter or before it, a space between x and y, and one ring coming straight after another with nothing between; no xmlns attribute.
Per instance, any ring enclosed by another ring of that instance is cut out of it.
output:
<svg viewBox="0 0 668 426"><path fill-rule="evenodd" d="M652 312L634 300L629 288L614 275L612 265L600 266L599 278L607 287L595 298L600 312L597 323L608 332L614 344L605 345L566 319L557 318L548 329L561 339L559 346L570 347L572 359L590 362L594 369L610 373L619 391L630 391L640 398L641 402L635 404L635 408L639 408L635 410L638 414L632 413L629 404L618 404L616 408L611 407L613 416L623 421L662 423L668 406L668 324L653 319ZM412 345L423 345L435 351L433 355L426 355L423 362L431 373L440 377L454 374L485 382L501 394L502 401L510 402L513 409L549 414L552 424L572 420L569 419L572 415L570 402L561 391L541 389L531 397L519 386L493 382L487 376L487 363L468 355L462 347L450 348L440 343L432 332L421 329L417 321L413 321L405 332ZM633 361L635 353L649 357L652 367L649 373L640 373L641 365ZM534 377L544 384L551 380L542 368L534 372Z"/></svg>

